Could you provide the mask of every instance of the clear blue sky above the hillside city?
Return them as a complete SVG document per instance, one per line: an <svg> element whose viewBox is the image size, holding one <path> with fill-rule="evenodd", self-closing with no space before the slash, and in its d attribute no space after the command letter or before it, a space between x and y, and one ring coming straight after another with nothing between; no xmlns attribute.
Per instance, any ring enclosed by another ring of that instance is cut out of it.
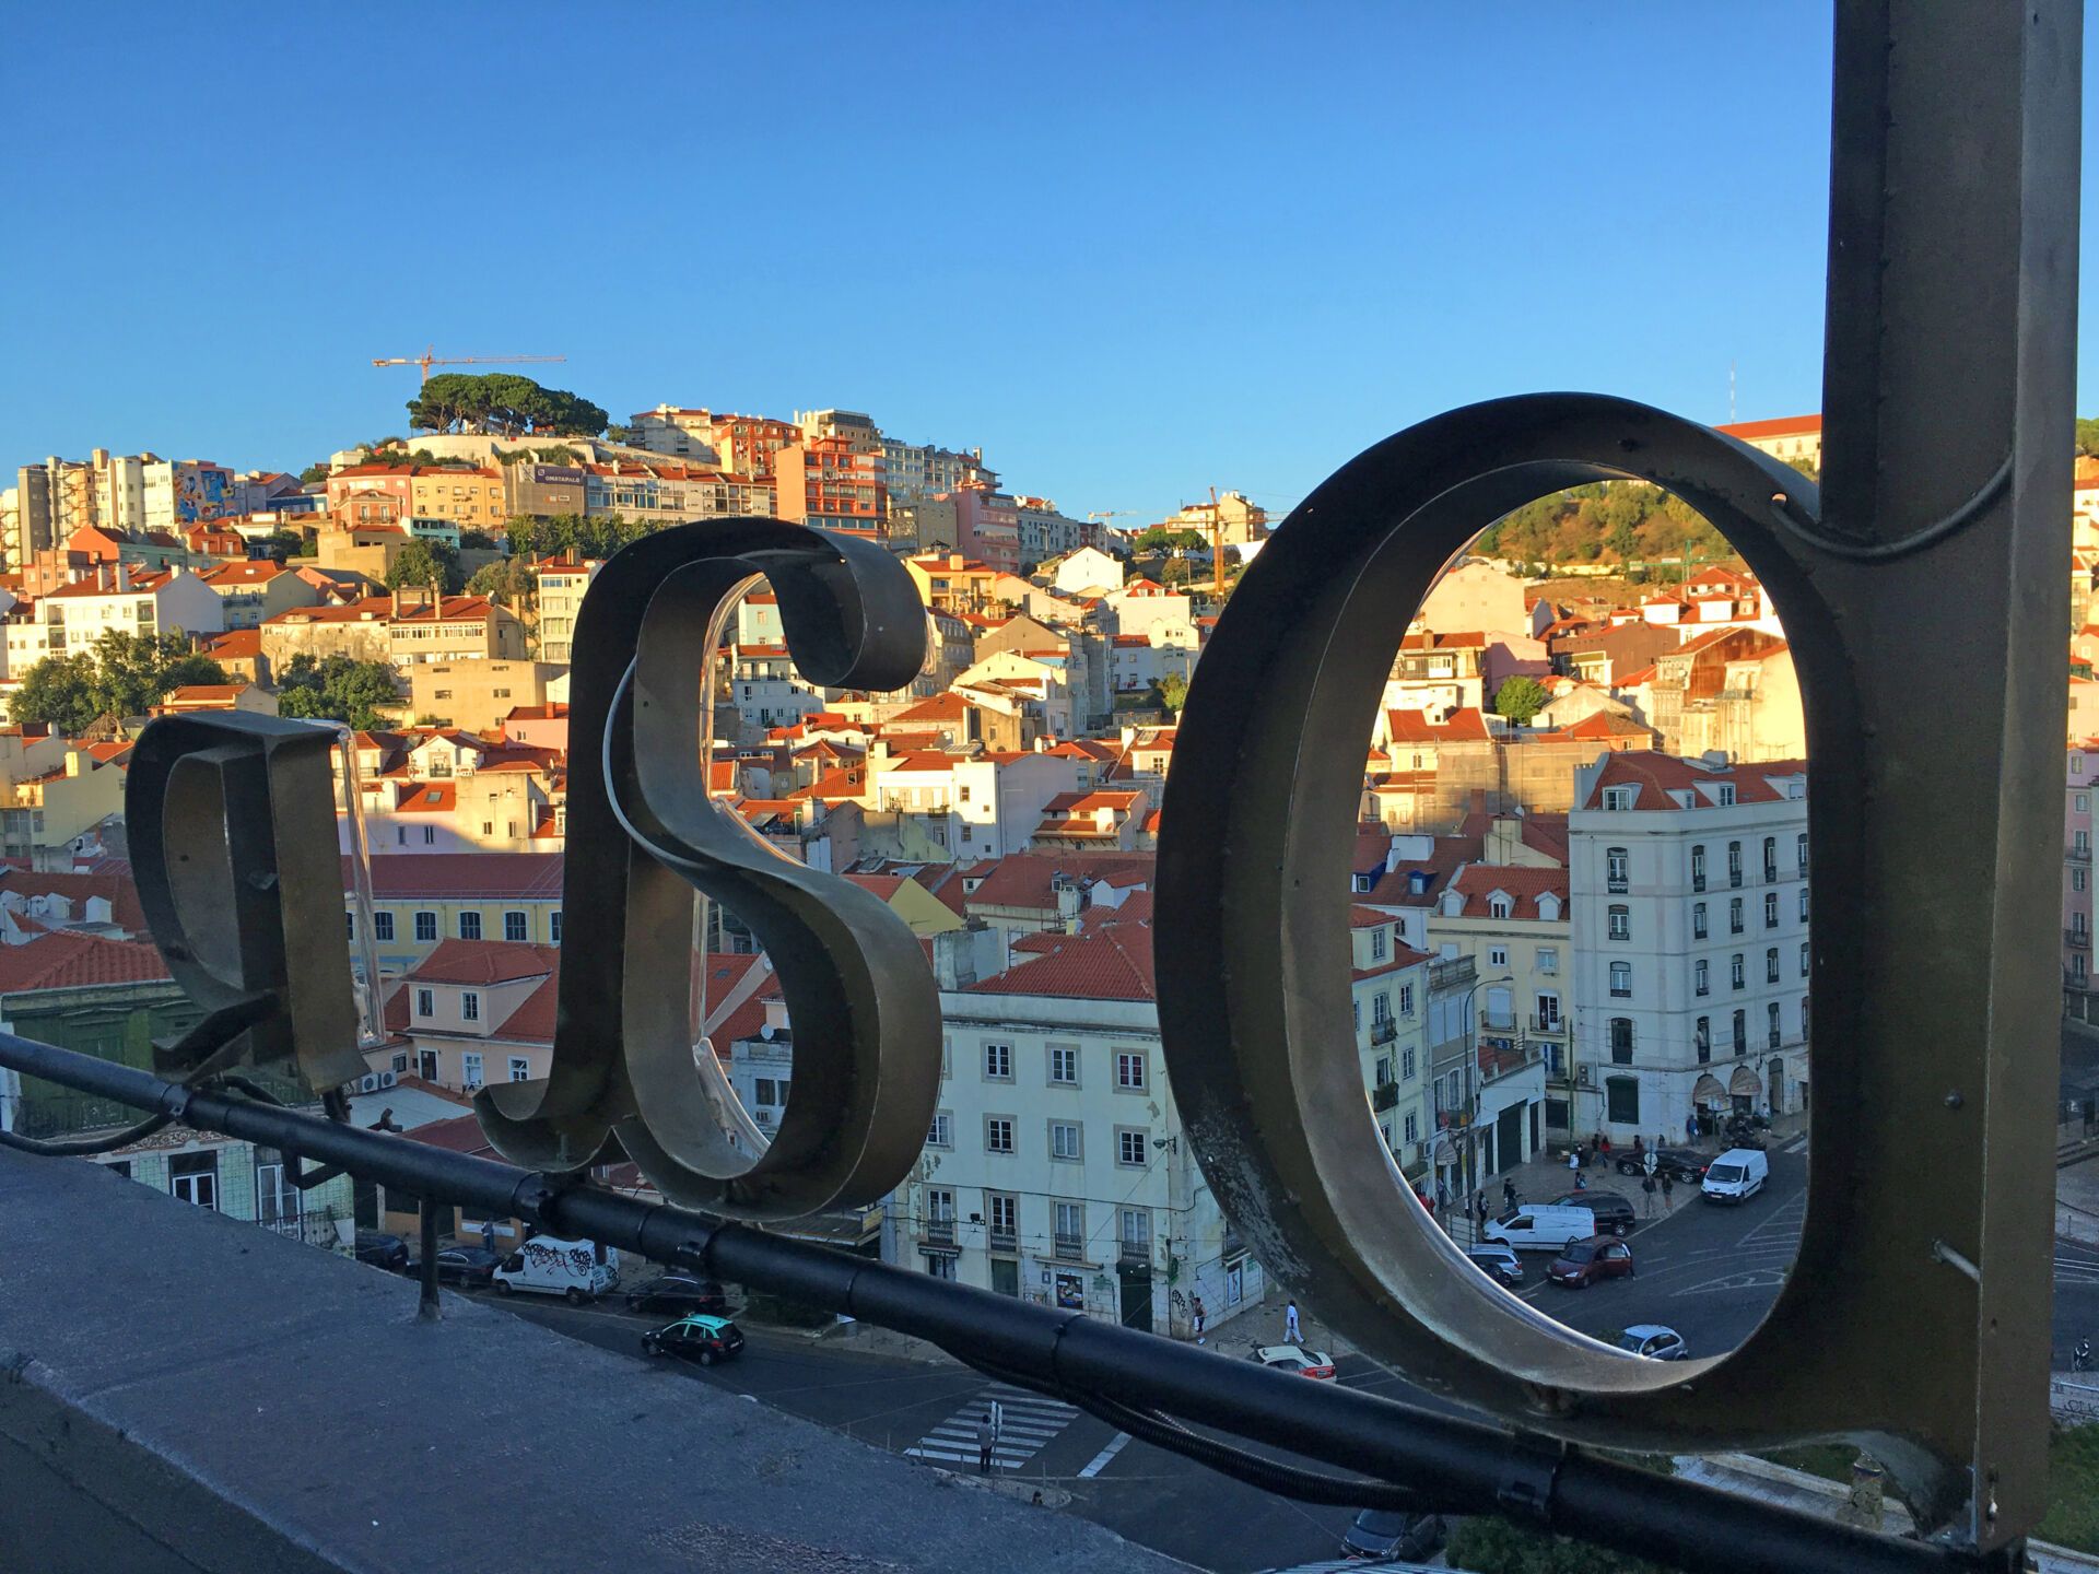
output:
<svg viewBox="0 0 2099 1574"><path fill-rule="evenodd" d="M1499 392L1719 422L1734 363L1742 420L1816 409L1828 27L1826 0L17 10L0 468L298 468L403 430L416 374L369 359L430 342L567 355L521 369L615 418L867 409L1068 512L1280 508Z"/></svg>

